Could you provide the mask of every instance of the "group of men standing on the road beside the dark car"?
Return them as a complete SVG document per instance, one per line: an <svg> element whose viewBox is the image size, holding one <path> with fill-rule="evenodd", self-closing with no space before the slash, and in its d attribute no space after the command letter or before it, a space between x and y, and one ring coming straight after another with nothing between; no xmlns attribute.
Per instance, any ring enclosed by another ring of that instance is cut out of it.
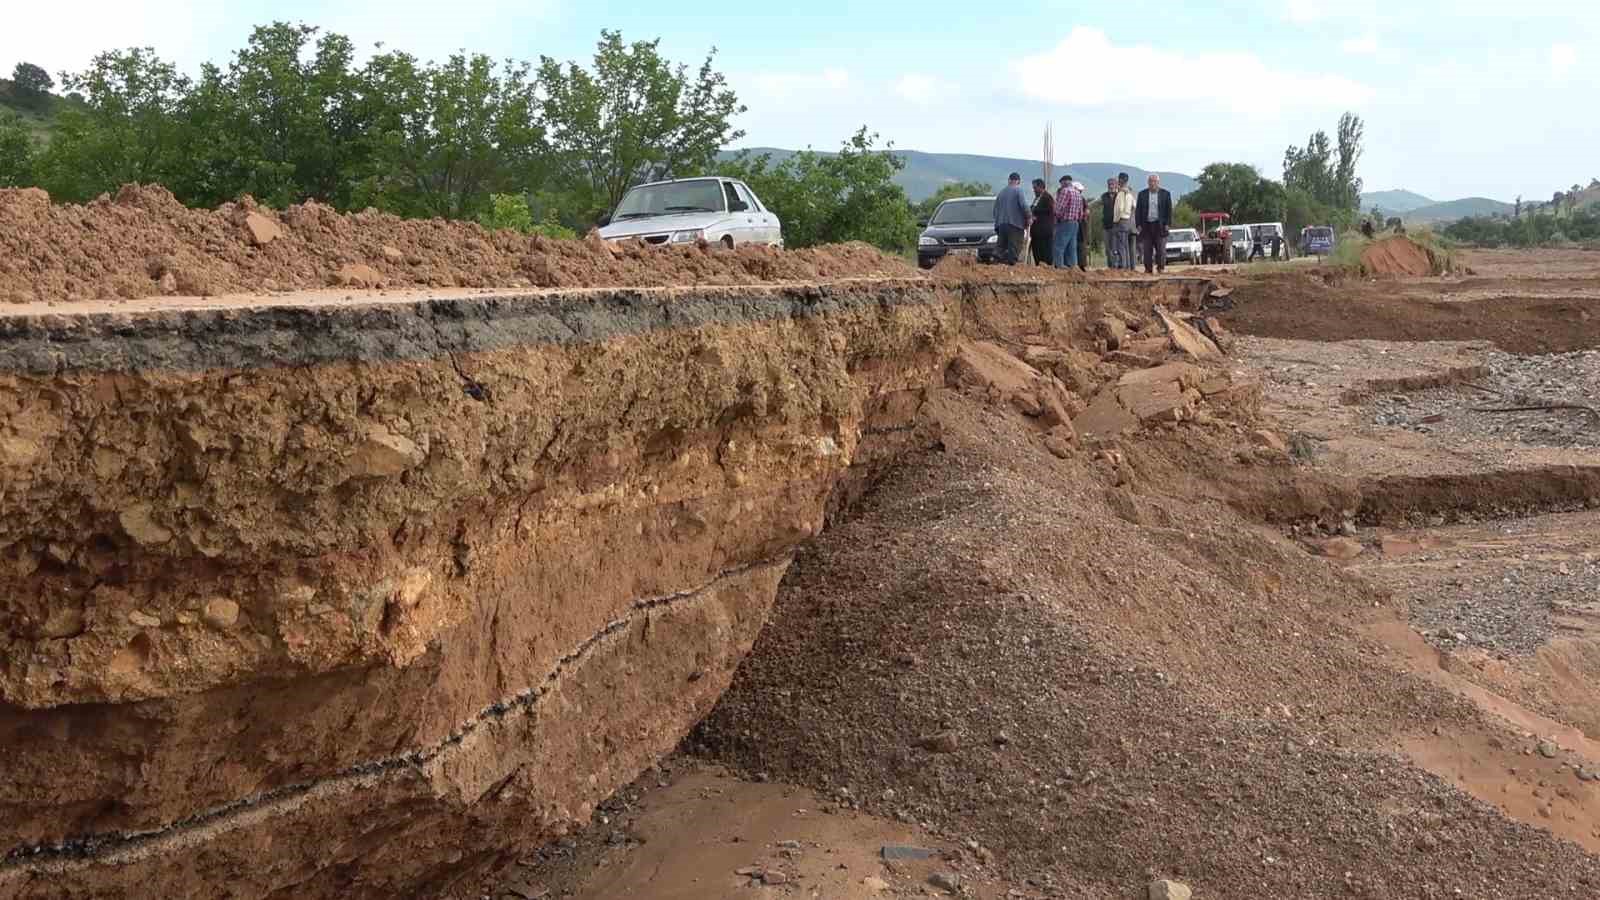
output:
<svg viewBox="0 0 1600 900"><path fill-rule="evenodd" d="M1034 202L1022 197L1022 176L1011 173L995 195L995 235L1000 261L1014 266L1022 255L1022 234L1034 247L1034 263L1058 269L1088 271L1085 235L1088 203L1083 186L1070 175L1061 176L1061 187L1051 197L1043 178L1034 179ZM1128 187L1128 173L1106 179L1101 194L1101 227L1106 231L1106 264L1133 269L1138 248L1144 255L1147 274L1166 271L1166 234L1173 226L1173 195L1162 187L1160 176L1149 178L1149 187L1138 195Z"/></svg>

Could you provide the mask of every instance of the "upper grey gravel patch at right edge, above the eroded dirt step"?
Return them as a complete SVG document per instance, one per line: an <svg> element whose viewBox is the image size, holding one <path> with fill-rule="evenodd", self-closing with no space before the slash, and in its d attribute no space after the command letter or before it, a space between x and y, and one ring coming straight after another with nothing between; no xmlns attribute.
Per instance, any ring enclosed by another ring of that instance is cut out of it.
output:
<svg viewBox="0 0 1600 900"><path fill-rule="evenodd" d="M1370 421L1440 439L1600 448L1600 351L1518 356L1491 351L1470 384L1370 400ZM1584 407L1528 408L1517 407Z"/></svg>

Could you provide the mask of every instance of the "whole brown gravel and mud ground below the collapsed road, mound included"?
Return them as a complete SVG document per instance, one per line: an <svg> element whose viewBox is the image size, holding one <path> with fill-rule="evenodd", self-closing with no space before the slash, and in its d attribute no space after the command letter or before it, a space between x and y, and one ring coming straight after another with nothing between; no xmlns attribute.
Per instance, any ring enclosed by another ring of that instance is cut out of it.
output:
<svg viewBox="0 0 1600 900"><path fill-rule="evenodd" d="M1477 410L1584 391L1600 256L1467 264L1242 279L1222 322L1256 336L1224 365L1259 420L1056 453L947 391L941 442L795 560L688 756L485 894L1592 894L1600 423ZM683 798L712 762L810 791L830 825L794 879L749 874L784 828ZM894 828L938 884L874 857Z"/></svg>

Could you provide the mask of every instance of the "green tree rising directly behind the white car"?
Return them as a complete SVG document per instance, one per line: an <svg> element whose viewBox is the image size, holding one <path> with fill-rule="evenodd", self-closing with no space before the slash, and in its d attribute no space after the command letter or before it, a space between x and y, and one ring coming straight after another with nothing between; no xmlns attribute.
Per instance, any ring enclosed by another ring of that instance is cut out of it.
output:
<svg viewBox="0 0 1600 900"><path fill-rule="evenodd" d="M624 45L621 32L602 30L592 72L541 58L541 123L557 176L587 211L614 208L640 181L707 171L744 136L731 125L744 106L712 67L715 50L691 77L659 43Z"/></svg>

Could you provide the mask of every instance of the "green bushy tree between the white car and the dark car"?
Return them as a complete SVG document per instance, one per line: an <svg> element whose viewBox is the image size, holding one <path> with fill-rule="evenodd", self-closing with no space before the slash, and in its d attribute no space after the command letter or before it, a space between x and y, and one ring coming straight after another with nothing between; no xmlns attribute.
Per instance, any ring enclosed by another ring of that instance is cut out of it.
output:
<svg viewBox="0 0 1600 900"><path fill-rule="evenodd" d="M800 151L778 165L763 154L723 163L784 223L787 247L864 240L890 253L917 245L917 219L894 173L906 160L862 127L837 154Z"/></svg>

